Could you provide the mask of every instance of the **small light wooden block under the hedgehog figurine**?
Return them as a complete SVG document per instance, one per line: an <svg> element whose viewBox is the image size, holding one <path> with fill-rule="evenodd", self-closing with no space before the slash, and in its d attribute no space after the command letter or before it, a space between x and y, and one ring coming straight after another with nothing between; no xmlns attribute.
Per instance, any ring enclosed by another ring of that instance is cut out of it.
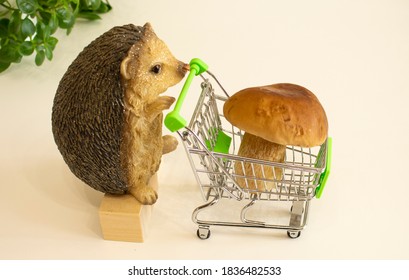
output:
<svg viewBox="0 0 409 280"><path fill-rule="evenodd" d="M158 189L157 174L149 185ZM99 221L106 240L144 242L153 205L142 205L130 194L105 194L99 207Z"/></svg>

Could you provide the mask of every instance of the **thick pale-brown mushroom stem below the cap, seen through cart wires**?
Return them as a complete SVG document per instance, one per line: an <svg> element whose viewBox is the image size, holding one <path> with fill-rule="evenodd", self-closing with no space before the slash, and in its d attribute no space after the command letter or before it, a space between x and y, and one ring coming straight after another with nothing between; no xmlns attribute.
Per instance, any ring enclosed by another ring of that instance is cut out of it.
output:
<svg viewBox="0 0 409 280"><path fill-rule="evenodd" d="M285 145L267 141L250 133L245 133L240 144L238 155L246 158L283 163ZM270 191L277 180L281 180L283 169L255 163L237 161L234 165L236 181L243 189ZM268 180L262 180L268 179Z"/></svg>

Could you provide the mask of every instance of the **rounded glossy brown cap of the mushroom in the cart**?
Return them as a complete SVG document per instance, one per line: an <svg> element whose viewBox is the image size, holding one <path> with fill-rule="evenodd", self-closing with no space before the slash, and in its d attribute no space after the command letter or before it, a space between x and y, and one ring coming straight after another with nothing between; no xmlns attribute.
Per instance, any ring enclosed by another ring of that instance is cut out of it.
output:
<svg viewBox="0 0 409 280"><path fill-rule="evenodd" d="M324 143L327 116L317 97L294 84L243 89L224 104L234 126L281 145L313 147Z"/></svg>

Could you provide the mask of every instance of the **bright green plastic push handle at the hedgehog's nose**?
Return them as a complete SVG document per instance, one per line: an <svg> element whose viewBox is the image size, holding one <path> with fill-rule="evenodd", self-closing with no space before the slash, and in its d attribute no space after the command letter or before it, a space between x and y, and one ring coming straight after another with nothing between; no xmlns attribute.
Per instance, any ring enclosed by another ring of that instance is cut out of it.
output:
<svg viewBox="0 0 409 280"><path fill-rule="evenodd" d="M182 108L183 101L189 90L190 84L195 76L206 72L209 68L206 63L198 58L193 58L190 63L190 72L183 85L182 91L176 101L175 108L172 112L168 113L165 117L165 126L172 132L175 132L186 126L186 120L180 115L180 109Z"/></svg>

